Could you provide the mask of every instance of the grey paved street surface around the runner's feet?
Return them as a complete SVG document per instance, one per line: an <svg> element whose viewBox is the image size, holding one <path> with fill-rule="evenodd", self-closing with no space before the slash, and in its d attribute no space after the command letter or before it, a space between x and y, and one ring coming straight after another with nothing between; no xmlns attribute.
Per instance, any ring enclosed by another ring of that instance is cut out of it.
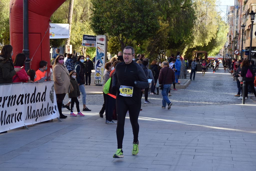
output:
<svg viewBox="0 0 256 171"><path fill-rule="evenodd" d="M217 72L204 77L197 72L196 81L187 91L173 91L171 99L175 101L170 110L161 108L161 97L156 95L154 104L143 107L137 156L131 154L129 115L124 158L115 159L112 155L117 149L116 125L105 124L105 118L98 114L101 105L91 103L93 112L84 117L68 116L62 122L54 119L35 124L29 130L18 128L0 134L0 170L256 170L256 103L247 100L241 105L236 99L237 103L231 100L219 105L219 97L234 98L230 89L236 91L236 87L230 76ZM214 80L223 77L230 85L228 89L226 83L216 85L214 92L220 89L222 93L216 94L217 99L205 98L206 104L190 103L197 102L194 95L195 99L187 97L186 104L178 102L186 93L193 95L198 85L205 85L200 91L212 92ZM150 98L153 100L154 95ZM64 114L69 111L64 110Z"/></svg>

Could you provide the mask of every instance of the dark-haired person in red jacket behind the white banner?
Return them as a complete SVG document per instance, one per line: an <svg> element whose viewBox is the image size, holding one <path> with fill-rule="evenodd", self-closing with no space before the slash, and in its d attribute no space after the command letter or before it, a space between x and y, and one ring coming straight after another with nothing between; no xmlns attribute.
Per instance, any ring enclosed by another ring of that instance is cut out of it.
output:
<svg viewBox="0 0 256 171"><path fill-rule="evenodd" d="M24 69L26 56L25 54L17 54L14 60L14 68L22 68L13 76L13 82L33 82Z"/></svg>

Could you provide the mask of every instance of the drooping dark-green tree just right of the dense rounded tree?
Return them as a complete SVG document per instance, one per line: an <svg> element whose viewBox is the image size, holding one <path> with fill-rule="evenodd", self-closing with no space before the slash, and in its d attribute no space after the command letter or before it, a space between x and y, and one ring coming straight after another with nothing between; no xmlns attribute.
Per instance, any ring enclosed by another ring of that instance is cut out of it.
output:
<svg viewBox="0 0 256 171"><path fill-rule="evenodd" d="M191 36L195 6L191 0L156 0L160 17L168 22L168 49L179 49Z"/></svg>

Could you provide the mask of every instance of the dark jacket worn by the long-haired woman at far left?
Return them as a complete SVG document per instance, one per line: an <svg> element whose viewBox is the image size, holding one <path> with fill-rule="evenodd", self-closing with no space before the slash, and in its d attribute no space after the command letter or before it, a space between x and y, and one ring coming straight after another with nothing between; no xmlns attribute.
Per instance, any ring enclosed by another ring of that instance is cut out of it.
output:
<svg viewBox="0 0 256 171"><path fill-rule="evenodd" d="M10 58L7 62L3 62L5 58L0 56L0 84L12 83L14 71L13 60Z"/></svg>

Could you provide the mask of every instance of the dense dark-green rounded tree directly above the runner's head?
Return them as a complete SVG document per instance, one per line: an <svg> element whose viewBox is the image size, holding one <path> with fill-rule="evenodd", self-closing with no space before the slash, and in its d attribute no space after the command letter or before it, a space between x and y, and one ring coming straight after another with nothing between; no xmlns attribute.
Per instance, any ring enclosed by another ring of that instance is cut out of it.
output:
<svg viewBox="0 0 256 171"><path fill-rule="evenodd" d="M134 40L152 37L159 28L151 0L91 0L91 28L98 35L117 37L121 50Z"/></svg>

